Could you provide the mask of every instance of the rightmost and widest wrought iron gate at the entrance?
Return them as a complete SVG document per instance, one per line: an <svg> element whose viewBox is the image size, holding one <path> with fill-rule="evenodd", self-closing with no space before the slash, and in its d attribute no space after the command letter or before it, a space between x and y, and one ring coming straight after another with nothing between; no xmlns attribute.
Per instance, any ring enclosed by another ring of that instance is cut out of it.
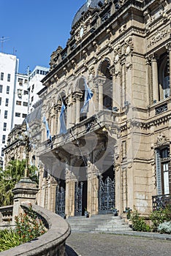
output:
<svg viewBox="0 0 171 256"><path fill-rule="evenodd" d="M115 208L115 183L108 176L105 181L99 176L99 214L108 214Z"/></svg>

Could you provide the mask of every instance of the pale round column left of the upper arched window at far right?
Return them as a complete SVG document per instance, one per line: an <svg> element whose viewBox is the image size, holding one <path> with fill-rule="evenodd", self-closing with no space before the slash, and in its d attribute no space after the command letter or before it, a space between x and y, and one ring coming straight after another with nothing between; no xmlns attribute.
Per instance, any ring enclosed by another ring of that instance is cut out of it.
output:
<svg viewBox="0 0 171 256"><path fill-rule="evenodd" d="M158 69L156 55L151 57L152 61L152 80L153 80L153 103L159 101L159 83L158 83Z"/></svg>

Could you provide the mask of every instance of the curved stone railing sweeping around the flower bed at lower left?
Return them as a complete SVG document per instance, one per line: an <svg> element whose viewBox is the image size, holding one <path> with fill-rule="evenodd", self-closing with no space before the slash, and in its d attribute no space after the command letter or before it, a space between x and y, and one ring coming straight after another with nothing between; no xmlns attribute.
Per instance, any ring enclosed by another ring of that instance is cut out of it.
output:
<svg viewBox="0 0 171 256"><path fill-rule="evenodd" d="M23 203L23 209L29 207ZM32 210L43 220L48 230L31 242L0 252L0 256L64 256L66 238L71 233L69 224L52 211L32 204Z"/></svg>

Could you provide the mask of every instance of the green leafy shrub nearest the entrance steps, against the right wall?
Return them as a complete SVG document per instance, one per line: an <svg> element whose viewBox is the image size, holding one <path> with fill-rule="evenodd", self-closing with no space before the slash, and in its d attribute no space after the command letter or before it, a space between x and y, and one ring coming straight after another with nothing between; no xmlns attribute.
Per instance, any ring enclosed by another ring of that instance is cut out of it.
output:
<svg viewBox="0 0 171 256"><path fill-rule="evenodd" d="M151 227L145 223L145 219L140 217L137 210L132 211L130 219L132 220L132 229L134 231L151 231Z"/></svg>

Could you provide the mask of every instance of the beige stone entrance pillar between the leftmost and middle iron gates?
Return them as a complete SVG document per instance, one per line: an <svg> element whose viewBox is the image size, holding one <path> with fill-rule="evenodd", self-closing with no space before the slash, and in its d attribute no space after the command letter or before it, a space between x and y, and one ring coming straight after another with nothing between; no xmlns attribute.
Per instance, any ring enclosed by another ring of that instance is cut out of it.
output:
<svg viewBox="0 0 171 256"><path fill-rule="evenodd" d="M75 216L75 175L66 168L65 214L66 218Z"/></svg>

